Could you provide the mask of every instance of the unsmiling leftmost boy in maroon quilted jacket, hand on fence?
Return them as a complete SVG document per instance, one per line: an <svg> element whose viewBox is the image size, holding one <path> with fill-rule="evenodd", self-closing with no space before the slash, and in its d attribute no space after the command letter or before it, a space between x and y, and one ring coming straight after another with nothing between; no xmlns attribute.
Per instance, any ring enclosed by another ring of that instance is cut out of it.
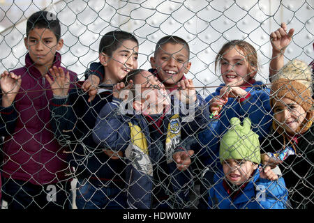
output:
<svg viewBox="0 0 314 223"><path fill-rule="evenodd" d="M66 148L54 139L49 109L53 95L46 82L52 66L66 70L57 52L63 47L60 23L52 13L38 11L27 20L26 32L25 66L12 70L13 75L7 71L1 75L20 87L10 98L11 108L17 111L15 129L3 143L4 199L9 209L69 208ZM69 87L73 87L77 75L67 72Z"/></svg>

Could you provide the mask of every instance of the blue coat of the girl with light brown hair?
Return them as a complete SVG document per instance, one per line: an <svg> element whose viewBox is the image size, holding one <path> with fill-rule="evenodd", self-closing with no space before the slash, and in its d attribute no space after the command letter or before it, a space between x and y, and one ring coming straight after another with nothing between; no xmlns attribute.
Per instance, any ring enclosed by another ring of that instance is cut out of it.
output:
<svg viewBox="0 0 314 223"><path fill-rule="evenodd" d="M240 102L236 98L228 98L227 103L223 106L218 118L212 118L207 121L207 128L197 135L204 151L199 153L204 164L218 164L219 165L219 144L223 134L230 126L230 119L232 117L243 118L248 117L252 121L252 130L256 132L260 140L267 137L271 128L272 112L269 103L270 89L261 86L262 82L255 82L252 86L245 90L250 93L246 100ZM209 101L217 95L220 95L220 89L225 84L221 84L214 93L207 96L205 101L209 105Z"/></svg>

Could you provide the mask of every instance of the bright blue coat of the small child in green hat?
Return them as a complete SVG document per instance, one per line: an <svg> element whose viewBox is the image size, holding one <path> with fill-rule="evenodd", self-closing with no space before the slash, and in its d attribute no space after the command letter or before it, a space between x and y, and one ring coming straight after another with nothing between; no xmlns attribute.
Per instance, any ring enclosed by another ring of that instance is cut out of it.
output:
<svg viewBox="0 0 314 223"><path fill-rule="evenodd" d="M260 178L255 170L253 179L232 200L223 186L224 178L214 177L216 184L209 190L209 208L219 209L285 209L287 189L285 180L267 180Z"/></svg>

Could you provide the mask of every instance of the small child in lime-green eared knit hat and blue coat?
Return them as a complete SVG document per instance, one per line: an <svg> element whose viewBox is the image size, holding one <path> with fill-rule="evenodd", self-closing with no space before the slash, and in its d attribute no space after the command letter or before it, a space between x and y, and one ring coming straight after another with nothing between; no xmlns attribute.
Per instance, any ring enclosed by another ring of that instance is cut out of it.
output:
<svg viewBox="0 0 314 223"><path fill-rule="evenodd" d="M231 127L220 143L224 177L216 175L209 189L209 208L284 209L287 190L283 178L260 164L260 142L251 120L231 118Z"/></svg>

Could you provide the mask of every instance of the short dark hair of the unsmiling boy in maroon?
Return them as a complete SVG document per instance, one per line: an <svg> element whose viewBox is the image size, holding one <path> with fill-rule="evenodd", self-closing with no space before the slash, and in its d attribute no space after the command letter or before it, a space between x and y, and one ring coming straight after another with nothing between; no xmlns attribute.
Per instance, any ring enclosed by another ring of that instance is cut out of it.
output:
<svg viewBox="0 0 314 223"><path fill-rule="evenodd" d="M29 36L29 32L35 28L50 29L54 33L54 36L56 36L57 41L59 41L61 37L60 21L58 20L57 15L54 15L53 13L47 11L33 13L27 20L27 37Z"/></svg>

